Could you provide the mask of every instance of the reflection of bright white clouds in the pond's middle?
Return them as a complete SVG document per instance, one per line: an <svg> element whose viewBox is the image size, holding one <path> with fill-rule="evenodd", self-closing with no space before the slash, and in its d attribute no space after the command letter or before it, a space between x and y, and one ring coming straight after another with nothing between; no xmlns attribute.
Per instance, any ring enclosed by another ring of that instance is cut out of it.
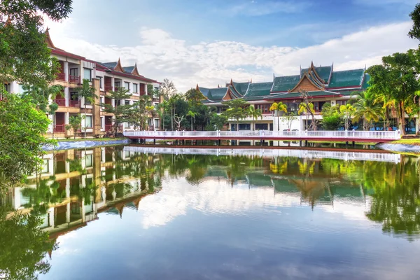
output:
<svg viewBox="0 0 420 280"><path fill-rule="evenodd" d="M364 202L347 203L338 200L334 206L316 206L314 211L323 209L352 220L366 220ZM228 183L217 180L202 181L199 186L194 186L180 176L177 181L164 180L160 193L145 197L139 210L144 213L144 228L150 228L186 215L188 209L211 215L247 215L253 209L279 211L276 208L300 204L300 193L274 193L272 187L248 188L246 183L238 183L231 188Z"/></svg>

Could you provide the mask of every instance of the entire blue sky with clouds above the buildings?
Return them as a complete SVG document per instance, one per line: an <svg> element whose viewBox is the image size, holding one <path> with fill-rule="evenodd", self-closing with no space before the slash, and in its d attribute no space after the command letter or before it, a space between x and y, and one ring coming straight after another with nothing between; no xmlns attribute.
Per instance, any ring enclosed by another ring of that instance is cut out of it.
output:
<svg viewBox="0 0 420 280"><path fill-rule="evenodd" d="M58 48L100 62L137 62L180 92L229 81L269 81L307 67L358 69L416 48L415 0L73 0L46 21Z"/></svg>

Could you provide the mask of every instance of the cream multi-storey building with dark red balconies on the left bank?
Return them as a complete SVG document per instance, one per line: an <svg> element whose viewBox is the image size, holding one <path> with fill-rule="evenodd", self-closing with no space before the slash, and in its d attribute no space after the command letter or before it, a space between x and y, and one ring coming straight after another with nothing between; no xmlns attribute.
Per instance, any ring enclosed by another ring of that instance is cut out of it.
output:
<svg viewBox="0 0 420 280"><path fill-rule="evenodd" d="M67 131L65 126L69 124L69 118L78 113L85 116L82 121L82 127L87 127L86 132L89 136L105 134L111 130L113 125L113 114L102 111L99 104L114 104L114 100L109 97L111 90L117 87L125 87L130 90L132 96L130 99L123 100L125 104L133 104L139 100L142 95L152 95L151 88L159 89L160 83L151 78L141 76L137 69L137 64L133 66L122 66L120 59L117 62L96 62L71 52L66 52L57 48L50 38L49 31L46 31L46 43L51 50L51 55L58 59L60 71L54 83L62 85L63 92L58 95L53 102L57 103L59 108L54 116L48 116L51 125L48 135L57 138L73 136L73 131ZM80 87L84 79L90 80L90 85L94 87L97 100L89 103L83 98L79 100L77 88ZM149 90L148 90L149 88ZM17 82L6 84L8 92L21 93L22 85ZM161 102L160 97L153 97L153 104ZM157 116L149 116L149 129L159 130L160 119ZM134 130L130 123L125 123L123 131Z"/></svg>

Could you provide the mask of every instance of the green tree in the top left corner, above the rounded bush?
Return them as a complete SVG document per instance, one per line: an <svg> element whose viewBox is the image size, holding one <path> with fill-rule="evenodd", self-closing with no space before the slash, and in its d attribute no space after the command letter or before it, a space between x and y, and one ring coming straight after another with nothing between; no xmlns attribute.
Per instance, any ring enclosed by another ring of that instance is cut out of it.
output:
<svg viewBox="0 0 420 280"><path fill-rule="evenodd" d="M45 43L43 15L55 21L67 18L71 2L0 1L0 83L17 80L46 87L54 80L58 64Z"/></svg>

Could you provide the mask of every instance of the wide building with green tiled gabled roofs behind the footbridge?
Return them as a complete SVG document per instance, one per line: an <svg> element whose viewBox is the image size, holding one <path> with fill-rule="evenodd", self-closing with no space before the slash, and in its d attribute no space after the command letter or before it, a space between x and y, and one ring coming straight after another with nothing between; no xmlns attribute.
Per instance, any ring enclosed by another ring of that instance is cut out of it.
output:
<svg viewBox="0 0 420 280"><path fill-rule="evenodd" d="M354 92L365 90L368 86L370 76L366 69L353 69L344 71L335 71L334 65L314 66L311 63L306 69L300 69L300 73L292 76L274 76L271 82L253 83L252 80L246 83L235 83L230 80L225 87L205 88L197 85L204 97L203 104L207 106L216 106L218 113L226 109L224 102L230 99L243 98L248 104L255 106L255 109L261 109L262 118L252 120L246 118L240 120L239 130L305 130L311 123L311 117L306 115L297 116L299 104L302 102L301 91L308 94L309 102L314 104L315 118L321 120L321 109L325 103L332 106L337 104L344 105L350 99L355 99ZM290 124L286 118L276 118L274 113L269 111L274 102L283 102L286 104L289 112L295 112L297 118ZM418 120L409 120L406 118L407 133L416 132L416 122ZM359 126L360 127L360 126ZM391 120L391 127L397 130L396 120ZM356 127L353 127L357 129ZM236 122L230 121L230 130L236 130ZM383 129L383 125L374 127L375 130Z"/></svg>

